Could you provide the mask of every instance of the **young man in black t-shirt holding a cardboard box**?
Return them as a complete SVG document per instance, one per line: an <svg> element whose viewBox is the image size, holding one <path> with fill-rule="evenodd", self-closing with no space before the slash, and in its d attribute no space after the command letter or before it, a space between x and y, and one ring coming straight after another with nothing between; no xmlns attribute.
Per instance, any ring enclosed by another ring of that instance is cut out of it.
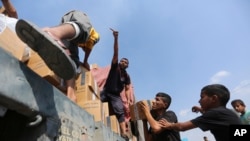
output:
<svg viewBox="0 0 250 141"><path fill-rule="evenodd" d="M163 92L159 92L153 101L152 110L143 102L139 102L140 108L145 113L146 122L149 123L150 129L147 130L147 123L144 120L144 132L146 141L180 141L179 131L164 129L159 120L166 120L171 123L177 123L177 116L173 111L167 110L171 104L171 97Z"/></svg>

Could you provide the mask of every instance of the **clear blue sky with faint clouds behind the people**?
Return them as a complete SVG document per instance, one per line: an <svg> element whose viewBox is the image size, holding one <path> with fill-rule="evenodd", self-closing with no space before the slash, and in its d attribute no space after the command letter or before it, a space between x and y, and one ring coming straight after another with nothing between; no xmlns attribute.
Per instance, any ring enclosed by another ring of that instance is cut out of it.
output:
<svg viewBox="0 0 250 141"><path fill-rule="evenodd" d="M101 34L89 62L109 65L113 55L110 27L119 31L119 56L130 60L137 100L169 93L170 106L186 121L199 114L200 89L221 83L232 99L250 107L250 1L249 0L12 0L19 18L40 27L54 26L72 9L86 12ZM84 54L81 53L81 57ZM209 132L181 133L189 141Z"/></svg>

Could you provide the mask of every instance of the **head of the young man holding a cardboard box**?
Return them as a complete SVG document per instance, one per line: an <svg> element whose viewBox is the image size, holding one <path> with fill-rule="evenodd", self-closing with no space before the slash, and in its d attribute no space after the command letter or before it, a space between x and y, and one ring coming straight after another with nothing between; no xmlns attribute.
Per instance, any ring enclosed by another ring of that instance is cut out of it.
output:
<svg viewBox="0 0 250 141"><path fill-rule="evenodd" d="M171 97L163 92L159 92L155 96L155 101L153 101L153 110L168 109L171 104Z"/></svg>

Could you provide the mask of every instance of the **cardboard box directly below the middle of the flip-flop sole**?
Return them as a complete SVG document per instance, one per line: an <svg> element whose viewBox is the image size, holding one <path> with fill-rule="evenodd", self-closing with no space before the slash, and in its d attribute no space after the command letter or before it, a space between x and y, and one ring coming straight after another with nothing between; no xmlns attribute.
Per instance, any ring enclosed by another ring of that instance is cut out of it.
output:
<svg viewBox="0 0 250 141"><path fill-rule="evenodd" d="M52 85L56 87L60 85L61 78L48 68L48 66L36 52L31 51L27 66Z"/></svg>

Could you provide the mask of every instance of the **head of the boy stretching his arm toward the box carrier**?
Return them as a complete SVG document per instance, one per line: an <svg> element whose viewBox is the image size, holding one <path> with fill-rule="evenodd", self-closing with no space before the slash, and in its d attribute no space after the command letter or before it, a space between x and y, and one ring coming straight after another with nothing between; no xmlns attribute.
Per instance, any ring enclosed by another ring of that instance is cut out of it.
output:
<svg viewBox="0 0 250 141"><path fill-rule="evenodd" d="M199 103L204 111L218 106L226 106L230 99L229 90L221 84L207 85L201 89Z"/></svg>

